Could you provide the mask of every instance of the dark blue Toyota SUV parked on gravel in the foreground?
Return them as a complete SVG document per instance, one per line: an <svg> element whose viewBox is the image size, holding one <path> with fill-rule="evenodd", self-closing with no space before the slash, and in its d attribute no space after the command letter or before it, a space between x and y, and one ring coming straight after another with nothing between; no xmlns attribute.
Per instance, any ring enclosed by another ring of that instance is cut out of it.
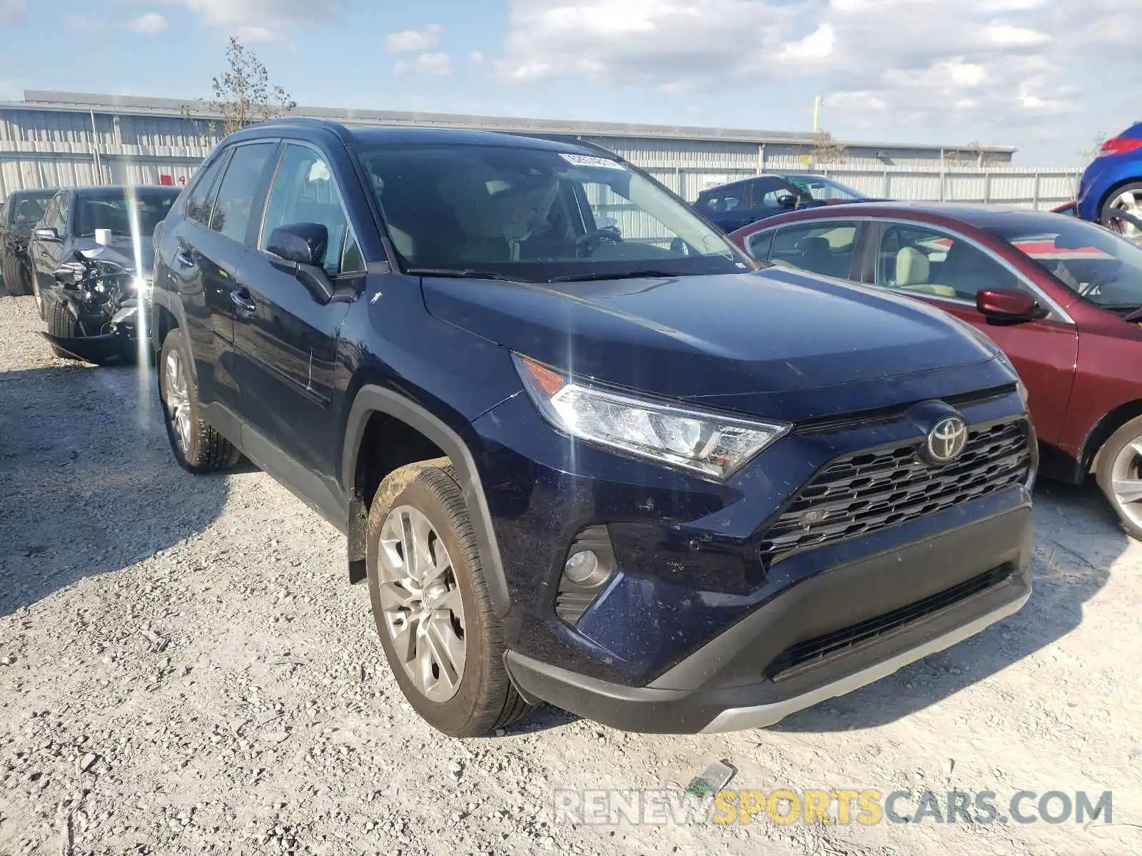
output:
<svg viewBox="0 0 1142 856"><path fill-rule="evenodd" d="M345 532L445 734L541 701L772 724L1029 596L1036 444L996 348L755 269L604 150L280 120L155 251L176 459L244 454Z"/></svg>

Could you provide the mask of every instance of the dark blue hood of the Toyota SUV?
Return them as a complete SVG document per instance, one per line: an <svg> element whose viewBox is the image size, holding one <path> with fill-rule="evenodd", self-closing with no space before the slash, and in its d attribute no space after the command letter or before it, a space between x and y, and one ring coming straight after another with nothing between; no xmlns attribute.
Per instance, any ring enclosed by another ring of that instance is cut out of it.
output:
<svg viewBox="0 0 1142 856"><path fill-rule="evenodd" d="M1014 382L994 348L939 309L799 272L536 285L425 277L423 288L436 317L549 365L770 418Z"/></svg>

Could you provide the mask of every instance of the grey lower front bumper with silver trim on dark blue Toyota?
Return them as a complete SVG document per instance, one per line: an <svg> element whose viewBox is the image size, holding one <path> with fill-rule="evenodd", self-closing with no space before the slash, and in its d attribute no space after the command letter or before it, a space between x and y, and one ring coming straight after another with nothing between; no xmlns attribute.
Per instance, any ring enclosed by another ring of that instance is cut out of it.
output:
<svg viewBox="0 0 1142 856"><path fill-rule="evenodd" d="M1028 502L818 574L644 687L587 677L516 652L508 652L505 662L530 701L547 701L624 730L692 734L769 726L1019 611L1031 593L1031 532ZM925 578L926 589L951 584L851 622L861 605L867 614L869 604L899 603L909 576ZM804 638L815 632L798 633L805 625L833 629Z"/></svg>

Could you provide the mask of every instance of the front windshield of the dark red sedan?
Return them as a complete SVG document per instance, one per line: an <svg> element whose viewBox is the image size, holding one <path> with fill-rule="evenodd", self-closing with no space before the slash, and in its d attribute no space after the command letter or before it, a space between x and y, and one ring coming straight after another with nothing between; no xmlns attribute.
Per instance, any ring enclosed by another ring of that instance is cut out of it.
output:
<svg viewBox="0 0 1142 856"><path fill-rule="evenodd" d="M1142 249L1099 226L1069 217L1013 217L984 227L1030 257L1091 302L1142 307Z"/></svg>

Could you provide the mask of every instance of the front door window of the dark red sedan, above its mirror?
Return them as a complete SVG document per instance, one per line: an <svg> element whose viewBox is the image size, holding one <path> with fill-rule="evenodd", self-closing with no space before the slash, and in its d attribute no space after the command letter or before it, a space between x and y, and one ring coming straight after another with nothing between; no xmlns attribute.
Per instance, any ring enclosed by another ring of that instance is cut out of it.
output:
<svg viewBox="0 0 1142 856"><path fill-rule="evenodd" d="M1022 289L1019 277L972 243L926 226L885 226L877 284L975 302L980 289Z"/></svg>

